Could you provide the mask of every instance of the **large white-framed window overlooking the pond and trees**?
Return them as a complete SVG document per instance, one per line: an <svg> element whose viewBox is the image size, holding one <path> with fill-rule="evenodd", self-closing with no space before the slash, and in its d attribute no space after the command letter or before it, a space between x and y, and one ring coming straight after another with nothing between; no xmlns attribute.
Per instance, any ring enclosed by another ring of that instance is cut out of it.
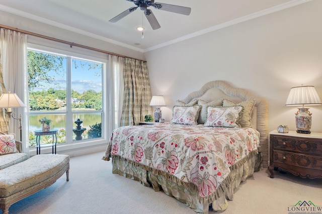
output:
<svg viewBox="0 0 322 214"><path fill-rule="evenodd" d="M29 146L36 145L39 120L52 120L57 145L103 140L106 133L104 103L107 61L78 53L29 47ZM41 143L51 143L42 136Z"/></svg>

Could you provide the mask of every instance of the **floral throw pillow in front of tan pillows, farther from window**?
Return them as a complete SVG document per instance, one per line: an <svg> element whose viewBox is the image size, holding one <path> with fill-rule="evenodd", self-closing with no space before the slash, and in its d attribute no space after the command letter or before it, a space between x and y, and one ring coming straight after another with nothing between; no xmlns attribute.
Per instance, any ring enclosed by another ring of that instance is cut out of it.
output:
<svg viewBox="0 0 322 214"><path fill-rule="evenodd" d="M207 107L207 121L204 126L213 127L240 127L239 120L243 106L233 107Z"/></svg>

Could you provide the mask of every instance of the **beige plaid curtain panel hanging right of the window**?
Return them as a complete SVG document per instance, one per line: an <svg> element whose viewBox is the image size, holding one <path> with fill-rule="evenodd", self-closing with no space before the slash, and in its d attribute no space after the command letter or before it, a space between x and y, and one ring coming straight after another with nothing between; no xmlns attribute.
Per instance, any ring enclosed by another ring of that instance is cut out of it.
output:
<svg viewBox="0 0 322 214"><path fill-rule="evenodd" d="M120 126L138 125L152 114L150 80L146 62L124 58L124 96Z"/></svg>

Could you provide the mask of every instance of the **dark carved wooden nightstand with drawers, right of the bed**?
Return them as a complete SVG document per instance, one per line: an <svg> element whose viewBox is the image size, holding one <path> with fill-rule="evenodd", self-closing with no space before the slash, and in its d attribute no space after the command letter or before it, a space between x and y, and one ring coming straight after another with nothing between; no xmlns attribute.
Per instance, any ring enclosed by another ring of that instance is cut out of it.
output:
<svg viewBox="0 0 322 214"><path fill-rule="evenodd" d="M296 131L270 134L270 165L279 167L301 177L322 177L322 133L299 134Z"/></svg>

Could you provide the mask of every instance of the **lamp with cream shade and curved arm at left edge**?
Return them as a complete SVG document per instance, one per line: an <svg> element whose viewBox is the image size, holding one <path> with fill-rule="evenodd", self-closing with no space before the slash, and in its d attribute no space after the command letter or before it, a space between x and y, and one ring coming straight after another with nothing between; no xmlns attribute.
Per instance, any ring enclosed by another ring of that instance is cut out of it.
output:
<svg viewBox="0 0 322 214"><path fill-rule="evenodd" d="M21 108L26 107L25 104L19 99L17 94L11 93L10 90L8 93L4 93L0 97L0 108L8 108L7 114L9 115L9 127L11 118L19 120L19 130L20 130L20 141L22 141L22 123L21 123L21 115L19 118L15 117L15 112L11 110L11 108Z"/></svg>

